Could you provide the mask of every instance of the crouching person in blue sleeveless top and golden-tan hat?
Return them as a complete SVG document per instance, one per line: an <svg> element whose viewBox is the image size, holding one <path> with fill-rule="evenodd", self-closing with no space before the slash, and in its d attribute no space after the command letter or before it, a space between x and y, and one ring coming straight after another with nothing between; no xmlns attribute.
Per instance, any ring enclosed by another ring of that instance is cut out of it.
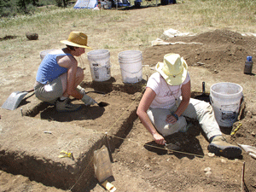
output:
<svg viewBox="0 0 256 192"><path fill-rule="evenodd" d="M73 112L81 105L70 102L73 96L84 102L85 105L96 103L90 96L86 96L79 84L84 79L84 71L78 67L74 56L84 54L87 46L87 36L83 32L71 32L67 40L61 41L66 48L56 49L44 56L38 67L35 95L43 102L55 104L58 112Z"/></svg>

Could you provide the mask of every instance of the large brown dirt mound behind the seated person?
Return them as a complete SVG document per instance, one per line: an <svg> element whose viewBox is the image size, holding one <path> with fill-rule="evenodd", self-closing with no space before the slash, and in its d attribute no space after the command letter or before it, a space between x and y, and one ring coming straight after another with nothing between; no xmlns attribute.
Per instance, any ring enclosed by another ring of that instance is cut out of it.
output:
<svg viewBox="0 0 256 192"><path fill-rule="evenodd" d="M185 42L201 44L175 44L154 46L147 49L143 58L145 64L154 66L163 60L167 53L178 53L183 56L189 66L207 67L218 73L227 68L231 71L243 70L247 55L255 56L256 38L244 37L238 32L215 30L192 37L176 37L166 42Z"/></svg>

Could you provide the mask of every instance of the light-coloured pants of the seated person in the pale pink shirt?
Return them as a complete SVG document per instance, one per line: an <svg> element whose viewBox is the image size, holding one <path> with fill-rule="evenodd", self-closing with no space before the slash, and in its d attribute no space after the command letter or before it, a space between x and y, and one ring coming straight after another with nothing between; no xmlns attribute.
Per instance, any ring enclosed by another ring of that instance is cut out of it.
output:
<svg viewBox="0 0 256 192"><path fill-rule="evenodd" d="M178 100L178 104L181 100ZM148 117L162 136L172 135L177 131L186 129L187 121L185 117L197 119L201 125L202 130L206 133L207 138L210 139L216 135L222 135L218 123L214 117L212 106L208 102L203 102L197 99L190 98L189 106L179 117L176 124L166 123L166 116L177 110L176 106L172 108L149 108Z"/></svg>

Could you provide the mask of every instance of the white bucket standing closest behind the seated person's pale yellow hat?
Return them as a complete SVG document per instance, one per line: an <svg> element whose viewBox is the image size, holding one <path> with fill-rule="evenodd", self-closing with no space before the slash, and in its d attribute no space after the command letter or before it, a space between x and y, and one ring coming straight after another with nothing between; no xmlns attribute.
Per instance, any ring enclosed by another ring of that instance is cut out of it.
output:
<svg viewBox="0 0 256 192"><path fill-rule="evenodd" d="M143 79L143 54L140 50L119 53L119 65L125 84L135 84Z"/></svg>

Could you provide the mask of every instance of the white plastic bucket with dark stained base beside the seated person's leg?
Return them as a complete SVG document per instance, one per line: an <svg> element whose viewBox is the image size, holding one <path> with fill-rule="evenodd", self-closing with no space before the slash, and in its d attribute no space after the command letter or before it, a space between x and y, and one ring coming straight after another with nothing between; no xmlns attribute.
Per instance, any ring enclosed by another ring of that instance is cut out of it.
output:
<svg viewBox="0 0 256 192"><path fill-rule="evenodd" d="M218 83L211 86L210 100L219 126L230 127L235 123L242 96L239 84Z"/></svg>

